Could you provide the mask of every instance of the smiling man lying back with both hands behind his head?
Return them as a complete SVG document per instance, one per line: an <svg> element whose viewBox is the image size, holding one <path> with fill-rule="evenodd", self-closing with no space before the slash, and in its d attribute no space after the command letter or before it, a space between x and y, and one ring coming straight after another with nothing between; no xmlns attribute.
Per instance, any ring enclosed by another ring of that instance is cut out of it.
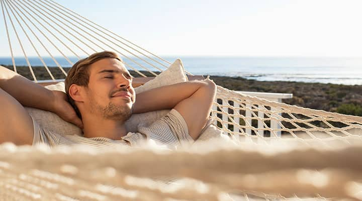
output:
<svg viewBox="0 0 362 201"><path fill-rule="evenodd" d="M108 147L152 139L176 147L199 137L216 94L215 83L206 79L151 89L136 98L124 62L108 51L75 63L65 79L65 89L67 94L50 91L1 67L0 143ZM84 137L60 136L40 128L23 106L56 113L82 128ZM138 133L127 132L125 121L132 114L162 109L172 110L152 125L139 126Z"/></svg>

